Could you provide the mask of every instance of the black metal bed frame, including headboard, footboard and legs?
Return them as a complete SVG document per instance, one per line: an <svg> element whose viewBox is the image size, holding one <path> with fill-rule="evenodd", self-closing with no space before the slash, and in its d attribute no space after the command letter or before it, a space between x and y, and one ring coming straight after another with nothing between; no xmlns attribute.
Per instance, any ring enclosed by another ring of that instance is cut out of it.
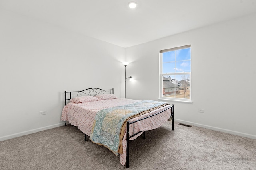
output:
<svg viewBox="0 0 256 170"><path fill-rule="evenodd" d="M96 96L98 94L114 94L114 88L112 89L107 89L107 90L102 90L100 88L88 88L88 89L85 89L85 90L82 90L82 91L73 91L73 92L67 92L65 90L65 105L67 104L67 100L70 100L72 98L72 94L74 93L77 93L76 94L76 97L79 97L79 96ZM69 98L67 98L67 94L69 94ZM75 97L75 96L74 96ZM143 138L145 139L145 131L139 131L137 133L134 133L135 131L135 123L138 122L138 121L141 121L141 120L144 120L144 119L147 119L149 117L152 117L152 116L155 116L155 115L158 115L168 109L171 109L172 113L171 113L171 116L170 118L172 119L172 130L174 130L174 104L167 108L167 109L164 109L163 111L159 112L159 113L155 113L154 115L150 115L148 117L144 117L142 119L138 119L136 121L133 121L133 122L130 122L129 120L126 121L126 142L127 142L127 147L126 147L126 168L129 168L129 141L130 141L130 138L138 135L139 133L142 133L143 132ZM65 123L65 126L67 125L66 124L66 121L64 121ZM130 136L130 125L133 124L133 135ZM84 134L85 137L84 137L84 141L87 141L87 135Z"/></svg>

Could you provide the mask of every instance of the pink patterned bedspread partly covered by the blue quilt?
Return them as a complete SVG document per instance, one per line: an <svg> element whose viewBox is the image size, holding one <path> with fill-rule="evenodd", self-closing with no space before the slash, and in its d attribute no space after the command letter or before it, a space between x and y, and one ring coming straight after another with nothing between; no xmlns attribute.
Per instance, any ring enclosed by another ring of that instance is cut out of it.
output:
<svg viewBox="0 0 256 170"><path fill-rule="evenodd" d="M117 99L110 99L110 100L84 102L84 103L78 103L78 104L68 103L66 106L64 106L62 110L61 120L68 121L71 125L77 126L78 129L80 129L83 133L90 136L92 132L94 117L98 111L109 108L109 107L131 104L138 101L139 100L117 98ZM143 117L147 117L148 115L153 115L168 107L170 107L170 105L166 105L164 107L161 107L159 109L156 109L144 115L140 115L139 117L132 118L129 121L132 122L132 121L141 119ZM168 109L161 114L136 122L135 133L139 131L152 130L160 127L163 123L165 123L170 118L170 115L171 115L171 109ZM130 135L133 135L133 124L130 125L129 129L130 129ZM139 135L141 135L141 133L132 137L130 140L136 139ZM126 147L127 147L126 144L127 143L126 143L126 130L125 130L124 137L122 140L123 153L120 154L121 155L120 163L122 165L125 165L125 162L126 162Z"/></svg>

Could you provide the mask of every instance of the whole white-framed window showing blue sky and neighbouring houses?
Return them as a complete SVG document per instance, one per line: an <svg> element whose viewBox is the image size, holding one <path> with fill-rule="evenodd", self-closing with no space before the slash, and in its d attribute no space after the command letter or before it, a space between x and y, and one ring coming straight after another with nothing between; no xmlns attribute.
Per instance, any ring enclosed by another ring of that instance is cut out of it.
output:
<svg viewBox="0 0 256 170"><path fill-rule="evenodd" d="M191 101L190 45L160 51L160 98Z"/></svg>

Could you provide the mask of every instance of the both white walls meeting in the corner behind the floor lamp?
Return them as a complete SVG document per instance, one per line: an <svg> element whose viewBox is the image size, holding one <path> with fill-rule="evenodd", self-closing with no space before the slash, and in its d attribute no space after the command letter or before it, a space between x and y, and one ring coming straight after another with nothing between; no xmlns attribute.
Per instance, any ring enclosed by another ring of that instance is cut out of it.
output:
<svg viewBox="0 0 256 170"><path fill-rule="evenodd" d="M124 60L135 79L126 98L158 100L159 50L188 44L192 103L170 101L175 119L256 139L255 21L256 14L124 49L0 10L0 140L63 125L64 90L114 88L124 97Z"/></svg>

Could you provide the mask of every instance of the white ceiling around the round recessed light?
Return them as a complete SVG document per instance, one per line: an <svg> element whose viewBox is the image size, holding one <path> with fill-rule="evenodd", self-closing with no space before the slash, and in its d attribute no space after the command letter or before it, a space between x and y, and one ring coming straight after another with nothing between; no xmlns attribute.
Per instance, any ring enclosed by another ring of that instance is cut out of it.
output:
<svg viewBox="0 0 256 170"><path fill-rule="evenodd" d="M256 0L0 0L0 8L131 47L255 13Z"/></svg>

